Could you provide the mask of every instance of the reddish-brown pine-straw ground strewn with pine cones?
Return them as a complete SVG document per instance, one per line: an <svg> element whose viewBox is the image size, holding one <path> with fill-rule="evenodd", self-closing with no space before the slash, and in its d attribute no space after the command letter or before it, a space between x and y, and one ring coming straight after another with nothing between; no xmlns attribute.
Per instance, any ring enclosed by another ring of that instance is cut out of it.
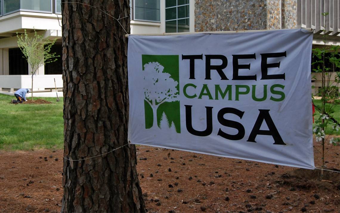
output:
<svg viewBox="0 0 340 213"><path fill-rule="evenodd" d="M314 143L321 150L320 143ZM340 175L138 146L149 212L340 212ZM326 144L339 170L339 147ZM314 151L316 166L321 154ZM0 212L60 212L62 150L0 151Z"/></svg>

